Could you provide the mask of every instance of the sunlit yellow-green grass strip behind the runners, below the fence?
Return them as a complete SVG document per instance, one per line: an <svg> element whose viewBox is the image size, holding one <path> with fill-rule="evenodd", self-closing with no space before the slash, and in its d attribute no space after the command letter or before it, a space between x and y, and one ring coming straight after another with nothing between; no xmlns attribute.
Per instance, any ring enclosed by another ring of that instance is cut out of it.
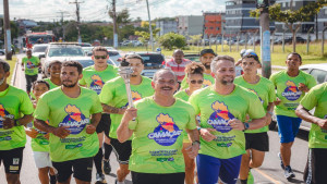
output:
<svg viewBox="0 0 327 184"><path fill-rule="evenodd" d="M209 46L206 46L205 48L210 48ZM271 52L271 64L272 65L284 65L284 61L287 56L292 52L292 45L286 45L284 51L282 50L281 45L275 45L274 46L274 52ZM199 52L204 47L196 47L191 46L189 49L183 50L184 53L187 52ZM237 46L232 46L231 48L227 45L223 46L223 51L221 51L221 45L211 46L211 49L217 52L218 54L228 54L233 57L235 60L240 58L240 51L242 49L245 49L245 46L239 46L239 51ZM247 46L247 49L254 49L253 46ZM152 51L150 48L146 50L145 47L121 47L119 50L122 51ZM326 63L327 62L327 42L325 44L325 56L322 57L322 44L320 42L312 42L310 45L308 53L306 52L306 44L298 44L296 45L296 52L299 52L302 56L303 62L302 64L313 64L313 63ZM164 50L162 54L165 54L166 58L169 58L172 56L173 50ZM255 46L255 52L261 56L261 48L259 46Z"/></svg>

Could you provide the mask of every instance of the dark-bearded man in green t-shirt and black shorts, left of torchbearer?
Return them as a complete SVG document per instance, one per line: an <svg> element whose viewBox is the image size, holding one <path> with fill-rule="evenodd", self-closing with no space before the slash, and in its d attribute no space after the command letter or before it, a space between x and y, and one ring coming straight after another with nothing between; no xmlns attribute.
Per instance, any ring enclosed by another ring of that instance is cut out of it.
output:
<svg viewBox="0 0 327 184"><path fill-rule="evenodd" d="M62 63L62 85L43 95L34 113L36 128L51 133L49 150L59 183L90 183L93 157L99 150L96 126L102 107L98 95L78 86L83 66L76 61ZM49 124L46 123L48 120Z"/></svg>

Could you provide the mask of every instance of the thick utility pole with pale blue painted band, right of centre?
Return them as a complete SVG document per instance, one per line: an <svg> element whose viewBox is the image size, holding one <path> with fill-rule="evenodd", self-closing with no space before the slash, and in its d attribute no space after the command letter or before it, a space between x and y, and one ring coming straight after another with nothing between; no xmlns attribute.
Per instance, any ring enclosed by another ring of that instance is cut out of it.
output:
<svg viewBox="0 0 327 184"><path fill-rule="evenodd" d="M269 78L271 75L269 0L257 0L256 7L261 9L262 74L264 77Z"/></svg>

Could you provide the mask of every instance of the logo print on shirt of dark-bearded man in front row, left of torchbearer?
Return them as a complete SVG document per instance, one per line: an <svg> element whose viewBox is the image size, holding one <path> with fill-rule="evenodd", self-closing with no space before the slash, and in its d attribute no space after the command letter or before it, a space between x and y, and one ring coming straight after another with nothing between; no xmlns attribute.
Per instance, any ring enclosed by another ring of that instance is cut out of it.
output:
<svg viewBox="0 0 327 184"><path fill-rule="evenodd" d="M59 126L70 126L68 130L71 131L71 134L80 134L86 124L88 124L89 119L86 119L81 110L74 105L68 105L64 108L64 111L68 115L62 120Z"/></svg>

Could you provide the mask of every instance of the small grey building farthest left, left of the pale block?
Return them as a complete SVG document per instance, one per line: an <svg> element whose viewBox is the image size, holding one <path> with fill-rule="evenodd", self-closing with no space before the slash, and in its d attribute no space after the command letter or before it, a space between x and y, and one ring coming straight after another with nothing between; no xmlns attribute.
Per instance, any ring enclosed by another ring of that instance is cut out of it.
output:
<svg viewBox="0 0 327 184"><path fill-rule="evenodd" d="M158 36L162 36L167 33L178 32L178 23L174 17L160 19L156 21L156 28L159 28L160 32L157 34Z"/></svg>

